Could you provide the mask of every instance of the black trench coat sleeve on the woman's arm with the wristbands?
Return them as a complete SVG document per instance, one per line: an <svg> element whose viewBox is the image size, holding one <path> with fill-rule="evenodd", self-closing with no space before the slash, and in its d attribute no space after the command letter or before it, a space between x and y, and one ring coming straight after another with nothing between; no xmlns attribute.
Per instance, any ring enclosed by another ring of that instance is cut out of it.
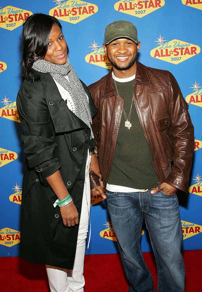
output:
<svg viewBox="0 0 202 292"><path fill-rule="evenodd" d="M16 102L28 167L38 171L44 180L57 171L61 163L55 155L55 132L42 81L24 81Z"/></svg>

